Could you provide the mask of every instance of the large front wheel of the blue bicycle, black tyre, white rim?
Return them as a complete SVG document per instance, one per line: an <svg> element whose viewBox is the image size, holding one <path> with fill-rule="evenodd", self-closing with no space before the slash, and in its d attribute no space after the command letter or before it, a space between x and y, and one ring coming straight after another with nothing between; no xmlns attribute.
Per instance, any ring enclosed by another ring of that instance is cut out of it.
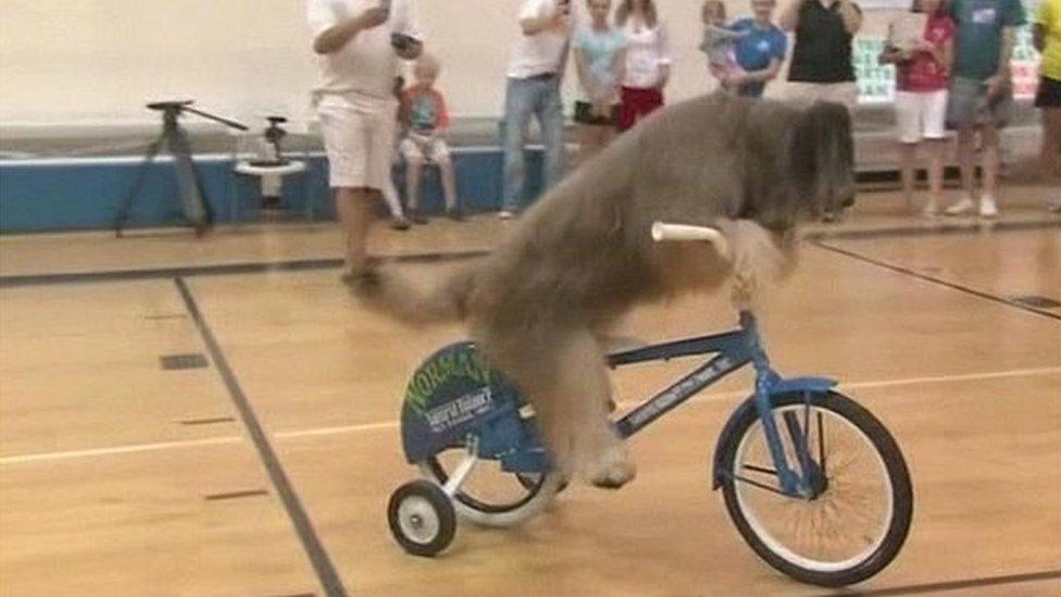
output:
<svg viewBox="0 0 1061 597"><path fill-rule="evenodd" d="M771 416L788 467L813 488L806 497L782 492L762 421L748 409L720 462L726 509L744 539L772 567L821 586L887 567L913 514L910 475L888 431L836 393L775 396Z"/></svg>

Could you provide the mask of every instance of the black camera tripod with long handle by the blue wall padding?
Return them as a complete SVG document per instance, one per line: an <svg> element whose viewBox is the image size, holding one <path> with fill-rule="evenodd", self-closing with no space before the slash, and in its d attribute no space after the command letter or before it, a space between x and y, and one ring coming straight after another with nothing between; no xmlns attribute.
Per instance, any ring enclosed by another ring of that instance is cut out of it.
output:
<svg viewBox="0 0 1061 597"><path fill-rule="evenodd" d="M163 146L170 150L174 163L177 166L177 187L180 189L184 214L195 227L196 236L202 236L213 225L213 210L209 201L207 201L202 181L199 178L199 172L196 170L195 162L191 160L191 144L188 141L188 134L180 126L178 117L182 113L189 112L239 130L247 130L248 128L238 122L196 110L190 107L191 103L191 100L160 101L147 105L151 110L162 112L162 133L148 145L143 161L140 163L136 173L133 187L118 208L117 215L114 219L114 234L116 236L122 236L122 231L128 222L129 212L133 209L136 196L140 191L140 187L143 186L151 163Z"/></svg>

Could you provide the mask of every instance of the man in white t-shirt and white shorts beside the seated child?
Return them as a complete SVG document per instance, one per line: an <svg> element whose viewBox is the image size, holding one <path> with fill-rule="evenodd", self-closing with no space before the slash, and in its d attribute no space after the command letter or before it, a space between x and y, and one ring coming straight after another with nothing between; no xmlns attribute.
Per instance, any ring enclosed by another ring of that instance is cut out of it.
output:
<svg viewBox="0 0 1061 597"><path fill-rule="evenodd" d="M373 203L390 179L398 59L415 59L422 36L412 0L309 0L319 55L314 90L329 185L346 237L346 275L366 266Z"/></svg>

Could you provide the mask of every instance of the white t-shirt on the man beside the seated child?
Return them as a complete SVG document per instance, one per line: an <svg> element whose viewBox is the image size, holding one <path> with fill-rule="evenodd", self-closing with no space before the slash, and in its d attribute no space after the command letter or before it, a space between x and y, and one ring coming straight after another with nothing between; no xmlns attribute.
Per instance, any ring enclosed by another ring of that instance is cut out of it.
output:
<svg viewBox="0 0 1061 597"><path fill-rule="evenodd" d="M379 4L379 0L308 0L305 14L316 37ZM345 96L352 101L392 98L398 72L398 54L390 45L392 33L423 40L412 0L391 0L386 23L358 33L334 53L319 55L321 84L314 94Z"/></svg>

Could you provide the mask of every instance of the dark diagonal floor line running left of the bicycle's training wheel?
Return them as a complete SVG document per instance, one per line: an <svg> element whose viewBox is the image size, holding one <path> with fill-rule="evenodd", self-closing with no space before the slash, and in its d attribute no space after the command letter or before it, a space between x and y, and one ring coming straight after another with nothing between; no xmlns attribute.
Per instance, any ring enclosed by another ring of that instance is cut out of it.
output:
<svg viewBox="0 0 1061 597"><path fill-rule="evenodd" d="M261 458L262 464L269 473L269 478L273 482L276 494L284 502L287 515L295 525L295 531L302 542L302 548L305 549L305 554L310 558L310 563L313 564L313 570L316 572L317 580L321 581L324 593L329 597L345 597L347 590L342 586L342 581L339 579L338 572L336 572L335 564L332 563L332 558L325 551L321 538L313 528L313 522L310 520L309 514L307 514L298 494L295 493L295 487L291 485L287 473L284 472L284 468L276 457L276 451L273 449L269 437L265 435L265 431L258 421L258 415L254 413L250 400L247 399L247 395L239 387L236 374L233 373L232 368L228 365L228 360L225 359L225 355L221 350L221 345L217 344L217 339L207 324L207 320L203 319L191 290L188 288L184 278L178 277L174 279L174 283L177 285L177 290L180 291L180 297L188 308L188 313L191 314L192 321L196 322L196 327L199 328L199 334L202 336L202 340L210 351L211 360L213 360L214 365L217 368L217 372L221 373L221 378L224 381L225 387L228 388L228 395L232 397L236 410L239 411L239 418L244 421L247 433L254 443L254 448L258 450L258 456Z"/></svg>

